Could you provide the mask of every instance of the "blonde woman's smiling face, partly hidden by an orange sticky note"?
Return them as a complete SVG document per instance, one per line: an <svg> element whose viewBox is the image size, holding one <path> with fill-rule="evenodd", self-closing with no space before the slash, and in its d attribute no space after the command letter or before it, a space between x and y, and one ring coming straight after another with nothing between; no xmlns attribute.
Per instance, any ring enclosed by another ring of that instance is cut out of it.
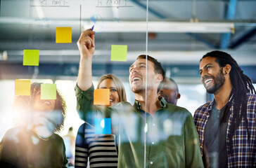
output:
<svg viewBox="0 0 256 168"><path fill-rule="evenodd" d="M117 104L119 101L119 95L117 93L117 87L112 79L106 78L99 85L99 89L110 89L110 106Z"/></svg>

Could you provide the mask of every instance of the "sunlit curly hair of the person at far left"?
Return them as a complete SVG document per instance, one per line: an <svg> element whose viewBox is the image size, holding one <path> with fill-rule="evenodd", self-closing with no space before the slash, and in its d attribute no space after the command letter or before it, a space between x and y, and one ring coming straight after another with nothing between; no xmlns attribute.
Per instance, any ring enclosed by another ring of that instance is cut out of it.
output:
<svg viewBox="0 0 256 168"><path fill-rule="evenodd" d="M32 113L34 112L33 106L34 106L34 97L37 95L37 92L41 90L41 83L32 83L31 90L30 90L30 96L15 96L14 102L13 102L13 111L20 111L18 115L23 116L25 113ZM62 121L60 124L56 127L56 132L60 132L60 130L63 128L63 123L66 116L66 109L67 106L65 104L65 100L63 99L60 92L57 90L56 93L56 104L54 107L54 110L61 111L63 114ZM16 123L21 123L26 125L26 120L19 120L16 121Z"/></svg>

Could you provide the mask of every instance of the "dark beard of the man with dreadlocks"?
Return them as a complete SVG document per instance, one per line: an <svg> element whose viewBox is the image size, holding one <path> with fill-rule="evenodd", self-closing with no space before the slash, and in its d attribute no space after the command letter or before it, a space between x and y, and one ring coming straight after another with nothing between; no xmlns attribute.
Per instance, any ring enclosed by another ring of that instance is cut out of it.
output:
<svg viewBox="0 0 256 168"><path fill-rule="evenodd" d="M224 73L222 72L222 69L219 70L219 73L217 74L216 78L214 76L213 80L215 81L215 85L213 85L210 88L206 88L207 93L210 94L215 94L217 92L217 90L219 90L220 87L222 87L222 85L225 82L225 77L224 77Z"/></svg>

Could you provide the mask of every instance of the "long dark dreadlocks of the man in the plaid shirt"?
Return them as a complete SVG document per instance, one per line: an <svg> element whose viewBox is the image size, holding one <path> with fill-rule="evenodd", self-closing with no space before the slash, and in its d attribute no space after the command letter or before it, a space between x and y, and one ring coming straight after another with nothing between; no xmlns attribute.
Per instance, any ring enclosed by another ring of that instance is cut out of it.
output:
<svg viewBox="0 0 256 168"><path fill-rule="evenodd" d="M248 131L248 119L247 119L247 94L255 94L255 87L252 85L252 80L248 76L246 76L240 66L238 66L237 62L231 55L226 52L222 52L219 50L215 50L212 52L208 52L205 57L216 57L216 62L220 67L226 66L229 64L231 66L231 71L229 72L229 76L231 79L232 90L229 95L229 102L224 107L224 111L221 115L219 124L223 123L227 116L229 115L229 109L233 104L233 119L231 122L231 132L229 134L230 141L230 151L233 151L233 135L236 129L239 127L242 118L245 120L248 139L250 139L250 132ZM202 58L202 59L203 59ZM202 60L200 59L200 61ZM241 112L240 112L241 111Z"/></svg>

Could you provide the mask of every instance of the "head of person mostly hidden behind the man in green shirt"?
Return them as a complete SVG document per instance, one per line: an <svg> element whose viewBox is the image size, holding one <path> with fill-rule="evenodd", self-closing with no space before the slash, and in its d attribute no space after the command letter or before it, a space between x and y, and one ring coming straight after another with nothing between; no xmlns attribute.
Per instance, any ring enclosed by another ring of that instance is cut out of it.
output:
<svg viewBox="0 0 256 168"><path fill-rule="evenodd" d="M165 78L165 81L158 91L158 99L165 98L169 104L177 106L177 101L181 98L177 83L172 78Z"/></svg>

